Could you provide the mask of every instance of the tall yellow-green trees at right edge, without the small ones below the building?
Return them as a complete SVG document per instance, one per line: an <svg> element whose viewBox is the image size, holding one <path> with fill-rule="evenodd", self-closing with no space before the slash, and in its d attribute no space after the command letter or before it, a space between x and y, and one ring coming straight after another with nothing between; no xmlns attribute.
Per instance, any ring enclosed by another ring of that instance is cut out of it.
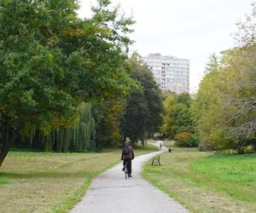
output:
<svg viewBox="0 0 256 213"><path fill-rule="evenodd" d="M207 149L256 150L255 5L245 23L239 23L241 47L210 57L207 75L192 104L200 146Z"/></svg>

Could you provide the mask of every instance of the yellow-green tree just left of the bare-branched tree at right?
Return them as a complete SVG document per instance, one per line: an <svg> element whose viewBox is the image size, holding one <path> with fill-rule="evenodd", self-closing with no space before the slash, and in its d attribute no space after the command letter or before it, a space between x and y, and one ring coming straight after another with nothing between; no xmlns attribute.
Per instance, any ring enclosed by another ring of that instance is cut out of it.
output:
<svg viewBox="0 0 256 213"><path fill-rule="evenodd" d="M215 149L222 134L219 119L223 116L222 104L219 95L222 91L221 72L213 69L201 81L200 89L192 102L191 113L196 124L196 130L201 141L200 147L204 150ZM216 143L213 143L215 139ZM220 142L222 140L220 139Z"/></svg>

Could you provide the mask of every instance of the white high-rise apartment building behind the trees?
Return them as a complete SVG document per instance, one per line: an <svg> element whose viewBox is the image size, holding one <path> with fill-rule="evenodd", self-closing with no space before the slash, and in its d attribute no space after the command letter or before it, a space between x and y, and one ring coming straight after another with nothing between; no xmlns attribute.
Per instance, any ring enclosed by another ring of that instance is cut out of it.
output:
<svg viewBox="0 0 256 213"><path fill-rule="evenodd" d="M160 54L149 54L142 59L153 72L154 80L163 92L189 93L188 59L177 59Z"/></svg>

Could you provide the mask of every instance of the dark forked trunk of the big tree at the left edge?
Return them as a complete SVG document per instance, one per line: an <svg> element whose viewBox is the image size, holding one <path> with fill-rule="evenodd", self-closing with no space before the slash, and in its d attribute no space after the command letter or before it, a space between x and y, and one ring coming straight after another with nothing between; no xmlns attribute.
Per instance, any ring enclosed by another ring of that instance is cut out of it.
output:
<svg viewBox="0 0 256 213"><path fill-rule="evenodd" d="M9 153L10 147L13 145L15 142L15 139L17 138L18 134L14 133L12 136L10 136L10 131L7 130L3 134L3 147L1 148L1 153L0 153L0 168L1 165L3 164L4 158L7 156Z"/></svg>

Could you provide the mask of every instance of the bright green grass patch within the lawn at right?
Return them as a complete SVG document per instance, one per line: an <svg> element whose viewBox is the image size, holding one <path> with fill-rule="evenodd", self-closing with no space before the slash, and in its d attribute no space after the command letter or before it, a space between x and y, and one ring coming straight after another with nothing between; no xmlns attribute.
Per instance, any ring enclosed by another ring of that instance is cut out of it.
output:
<svg viewBox="0 0 256 213"><path fill-rule="evenodd" d="M211 180L211 185L206 184L207 187L248 203L256 203L255 155L213 156L191 164L190 170Z"/></svg>

